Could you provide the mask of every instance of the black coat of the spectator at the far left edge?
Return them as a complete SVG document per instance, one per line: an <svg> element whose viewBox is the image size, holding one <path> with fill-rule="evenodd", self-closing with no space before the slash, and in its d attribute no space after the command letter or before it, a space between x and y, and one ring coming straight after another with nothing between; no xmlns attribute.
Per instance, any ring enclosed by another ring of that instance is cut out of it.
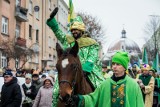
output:
<svg viewBox="0 0 160 107"><path fill-rule="evenodd" d="M20 86L17 83L17 78L4 83L1 91L1 106L2 107L20 107L22 101L22 93Z"/></svg>

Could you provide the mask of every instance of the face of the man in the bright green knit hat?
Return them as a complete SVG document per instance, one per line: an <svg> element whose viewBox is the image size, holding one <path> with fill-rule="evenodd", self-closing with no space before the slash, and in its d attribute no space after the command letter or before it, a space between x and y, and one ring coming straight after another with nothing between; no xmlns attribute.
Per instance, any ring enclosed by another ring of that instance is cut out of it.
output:
<svg viewBox="0 0 160 107"><path fill-rule="evenodd" d="M112 63L112 69L116 77L123 76L125 73L125 68L118 63Z"/></svg>

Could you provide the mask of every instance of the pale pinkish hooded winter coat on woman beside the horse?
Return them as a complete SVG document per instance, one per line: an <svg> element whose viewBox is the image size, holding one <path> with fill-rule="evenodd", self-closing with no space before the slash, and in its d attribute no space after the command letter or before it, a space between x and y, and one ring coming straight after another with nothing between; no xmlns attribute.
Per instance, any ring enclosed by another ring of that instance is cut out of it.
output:
<svg viewBox="0 0 160 107"><path fill-rule="evenodd" d="M47 79L50 80L53 85L53 79L51 77L47 77L45 80ZM46 88L43 84L43 86L38 91L33 107L52 107L52 95L53 86Z"/></svg>

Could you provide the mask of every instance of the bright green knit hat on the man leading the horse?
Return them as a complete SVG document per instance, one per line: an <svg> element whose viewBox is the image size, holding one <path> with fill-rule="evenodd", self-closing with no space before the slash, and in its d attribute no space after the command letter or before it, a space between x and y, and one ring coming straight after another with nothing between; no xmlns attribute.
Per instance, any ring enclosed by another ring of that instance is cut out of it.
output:
<svg viewBox="0 0 160 107"><path fill-rule="evenodd" d="M118 51L112 57L112 63L121 64L125 69L128 68L129 56L127 52Z"/></svg>

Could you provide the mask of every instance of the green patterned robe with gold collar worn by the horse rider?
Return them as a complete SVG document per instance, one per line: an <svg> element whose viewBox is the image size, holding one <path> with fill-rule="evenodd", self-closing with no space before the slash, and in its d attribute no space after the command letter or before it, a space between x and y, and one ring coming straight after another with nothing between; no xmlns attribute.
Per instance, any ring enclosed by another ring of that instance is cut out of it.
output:
<svg viewBox="0 0 160 107"><path fill-rule="evenodd" d="M47 25L52 29L57 39L61 42L63 45L63 48L66 49L68 47L72 47L74 45L74 38L71 35L66 35L62 32L62 30L59 28L58 23L56 22L55 18L52 20L47 20ZM92 84L95 88L97 88L102 81L104 81L103 75L102 75L102 64L99 60L99 45L98 43L89 37L81 37L77 40L79 44L79 58L80 62L83 65L86 64L86 62L93 63L93 68L89 70L90 75L88 75L89 79L91 80ZM56 81L54 85L54 92L53 92L53 107L56 106L57 100L58 100L58 80Z"/></svg>

